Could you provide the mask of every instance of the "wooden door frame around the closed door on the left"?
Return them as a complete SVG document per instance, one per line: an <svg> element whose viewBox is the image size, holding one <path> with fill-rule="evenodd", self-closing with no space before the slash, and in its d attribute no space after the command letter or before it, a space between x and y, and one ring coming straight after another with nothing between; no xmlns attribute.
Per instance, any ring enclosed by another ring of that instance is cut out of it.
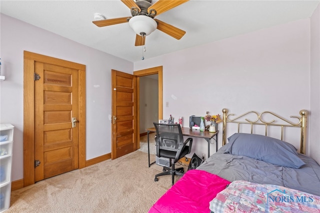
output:
<svg viewBox="0 0 320 213"><path fill-rule="evenodd" d="M34 61L78 69L78 168L85 167L85 65L23 51L23 187L34 184Z"/></svg>

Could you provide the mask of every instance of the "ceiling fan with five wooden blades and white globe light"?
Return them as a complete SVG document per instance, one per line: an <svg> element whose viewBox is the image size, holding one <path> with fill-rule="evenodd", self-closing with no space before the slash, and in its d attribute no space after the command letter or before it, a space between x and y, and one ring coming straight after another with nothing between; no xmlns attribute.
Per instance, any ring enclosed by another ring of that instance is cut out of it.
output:
<svg viewBox="0 0 320 213"><path fill-rule="evenodd" d="M188 0L157 0L153 4L151 4L151 0L121 1L130 8L132 16L94 20L92 22L98 27L129 22L130 27L136 33L135 46L144 45L145 36L155 29L176 39L180 39L185 34L185 31L182 29L155 19L154 17Z"/></svg>

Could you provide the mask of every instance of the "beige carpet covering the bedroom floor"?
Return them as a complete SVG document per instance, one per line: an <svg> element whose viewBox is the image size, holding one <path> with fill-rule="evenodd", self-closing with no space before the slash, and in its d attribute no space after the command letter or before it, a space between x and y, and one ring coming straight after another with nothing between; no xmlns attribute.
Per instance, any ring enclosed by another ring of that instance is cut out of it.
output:
<svg viewBox="0 0 320 213"><path fill-rule="evenodd" d="M136 150L12 191L6 213L147 212L171 187L169 175L154 182L161 171L156 164L148 167L147 153Z"/></svg>

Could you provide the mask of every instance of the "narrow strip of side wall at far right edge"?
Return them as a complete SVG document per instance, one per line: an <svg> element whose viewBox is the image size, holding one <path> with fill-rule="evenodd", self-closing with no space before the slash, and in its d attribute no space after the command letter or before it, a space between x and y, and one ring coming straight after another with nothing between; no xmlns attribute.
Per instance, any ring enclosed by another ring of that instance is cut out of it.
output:
<svg viewBox="0 0 320 213"><path fill-rule="evenodd" d="M310 156L320 163L320 4L311 18L310 116L308 120Z"/></svg>

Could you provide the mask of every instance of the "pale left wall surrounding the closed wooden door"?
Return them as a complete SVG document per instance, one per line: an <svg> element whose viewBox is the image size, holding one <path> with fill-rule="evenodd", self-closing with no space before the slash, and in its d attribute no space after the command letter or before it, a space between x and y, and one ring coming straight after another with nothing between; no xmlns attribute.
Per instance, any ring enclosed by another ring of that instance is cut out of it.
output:
<svg viewBox="0 0 320 213"><path fill-rule="evenodd" d="M111 69L133 63L1 14L0 122L14 129L12 180L23 178L23 50L86 65L86 159L111 152Z"/></svg>

